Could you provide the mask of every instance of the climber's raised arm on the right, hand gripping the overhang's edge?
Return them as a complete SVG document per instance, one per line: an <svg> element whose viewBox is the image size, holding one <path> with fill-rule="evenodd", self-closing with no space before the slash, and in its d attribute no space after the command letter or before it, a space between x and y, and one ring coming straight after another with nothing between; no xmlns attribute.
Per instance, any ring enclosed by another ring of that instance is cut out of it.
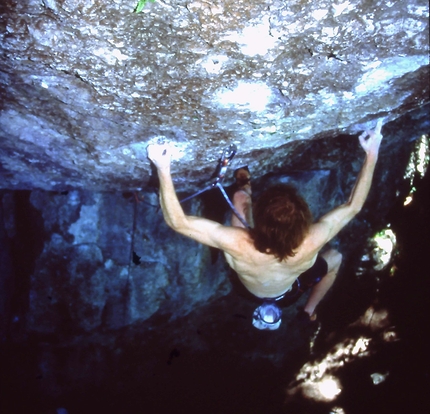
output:
<svg viewBox="0 0 430 414"><path fill-rule="evenodd" d="M324 215L313 225L314 241L323 245L336 236L362 209L372 185L373 173L378 160L379 146L381 144L382 120L379 120L374 131L365 131L359 136L359 141L366 152L361 171L352 189L346 204L335 208Z"/></svg>

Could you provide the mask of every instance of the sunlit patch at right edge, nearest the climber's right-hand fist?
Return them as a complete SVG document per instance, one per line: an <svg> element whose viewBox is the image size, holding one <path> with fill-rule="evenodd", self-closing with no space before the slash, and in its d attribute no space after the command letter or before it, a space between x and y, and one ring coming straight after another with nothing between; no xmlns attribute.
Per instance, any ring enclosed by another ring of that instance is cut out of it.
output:
<svg viewBox="0 0 430 414"><path fill-rule="evenodd" d="M416 191L416 188L413 186L414 178L417 175L420 178L424 177L429 165L429 159L429 138L427 134L423 134L415 143L414 150L411 153L408 166L406 167L405 175L403 176L405 180L409 180L411 186L411 190L403 202L404 206L407 206L413 201L413 195Z"/></svg>

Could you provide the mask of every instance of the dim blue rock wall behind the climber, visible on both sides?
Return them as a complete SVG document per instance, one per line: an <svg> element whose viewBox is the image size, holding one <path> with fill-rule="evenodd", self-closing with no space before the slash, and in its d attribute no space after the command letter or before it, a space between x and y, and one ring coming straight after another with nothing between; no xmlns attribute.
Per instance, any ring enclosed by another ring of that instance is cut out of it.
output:
<svg viewBox="0 0 430 414"><path fill-rule="evenodd" d="M428 109L384 128L365 209L333 241L351 261L353 272L367 239L386 225L387 212L409 191L404 174L416 139L430 128ZM290 173L279 171L255 180L254 196L272 183L291 182L315 218L345 202L363 159L357 139L304 142L295 151L300 156L290 165ZM5 276L0 279L4 292L15 290L20 295L20 299L0 295L1 315L12 318L13 299L25 331L115 331L154 315L175 319L231 290L221 255L168 228L155 191L7 191L1 205L0 246L11 252L11 258L4 261ZM184 207L190 214L220 222L227 217L228 206L218 189ZM10 287L11 278L19 284L15 289Z"/></svg>

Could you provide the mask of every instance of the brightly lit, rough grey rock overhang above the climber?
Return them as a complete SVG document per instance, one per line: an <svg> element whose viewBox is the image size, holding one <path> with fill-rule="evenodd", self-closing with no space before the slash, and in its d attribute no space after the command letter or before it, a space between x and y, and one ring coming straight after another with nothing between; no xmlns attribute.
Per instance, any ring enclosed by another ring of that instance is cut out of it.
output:
<svg viewBox="0 0 430 414"><path fill-rule="evenodd" d="M143 188L163 139L191 191L230 143L261 176L428 101L424 0L136 5L0 5L0 187Z"/></svg>

